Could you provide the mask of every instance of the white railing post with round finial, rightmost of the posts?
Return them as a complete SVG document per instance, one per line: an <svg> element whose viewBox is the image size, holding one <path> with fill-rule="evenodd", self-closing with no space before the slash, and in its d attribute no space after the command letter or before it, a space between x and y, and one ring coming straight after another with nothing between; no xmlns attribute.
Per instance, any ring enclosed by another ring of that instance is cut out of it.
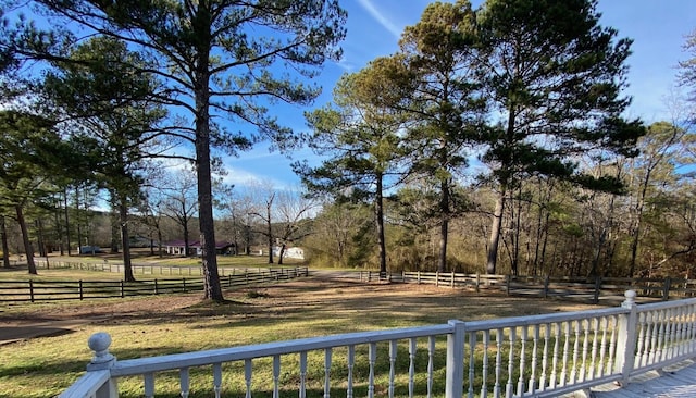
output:
<svg viewBox="0 0 696 398"><path fill-rule="evenodd" d="M621 307L630 310L627 314L619 316L618 332L619 337L617 340L617 359L614 362L614 372L621 373L622 385L629 383L629 376L633 371L635 361L635 345L636 345L636 327L637 327L637 313L635 303L636 293L634 290L626 290L624 297L626 298Z"/></svg>

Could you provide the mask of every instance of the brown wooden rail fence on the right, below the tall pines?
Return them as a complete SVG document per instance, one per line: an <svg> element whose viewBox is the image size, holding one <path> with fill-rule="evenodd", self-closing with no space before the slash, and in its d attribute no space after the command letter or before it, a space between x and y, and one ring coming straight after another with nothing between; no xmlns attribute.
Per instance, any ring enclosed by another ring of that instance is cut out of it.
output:
<svg viewBox="0 0 696 398"><path fill-rule="evenodd" d="M625 290L638 297L669 300L696 297L696 279L629 278L629 277L563 277L462 274L455 272L400 272L381 274L358 273L361 281L390 281L412 284L468 288L475 291L496 290L510 296L576 299L598 303L604 299L621 299Z"/></svg>

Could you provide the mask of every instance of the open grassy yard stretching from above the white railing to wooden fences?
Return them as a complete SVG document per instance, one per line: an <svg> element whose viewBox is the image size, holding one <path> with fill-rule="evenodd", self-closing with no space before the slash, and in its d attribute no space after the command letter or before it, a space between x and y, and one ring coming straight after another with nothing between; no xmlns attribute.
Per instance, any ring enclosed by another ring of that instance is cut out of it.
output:
<svg viewBox="0 0 696 398"><path fill-rule="evenodd" d="M474 296L424 285L303 278L226 291L227 302L201 302L200 294L109 299L91 303L3 308L0 324L79 319L65 334L0 346L0 397L50 397L85 369L95 332L112 335L120 359L258 344L336 333L595 308L539 299ZM129 385L133 384L133 386ZM122 384L126 397L138 384ZM173 386L175 388L175 385ZM174 394L174 393L172 393ZM173 395L174 396L174 395Z"/></svg>

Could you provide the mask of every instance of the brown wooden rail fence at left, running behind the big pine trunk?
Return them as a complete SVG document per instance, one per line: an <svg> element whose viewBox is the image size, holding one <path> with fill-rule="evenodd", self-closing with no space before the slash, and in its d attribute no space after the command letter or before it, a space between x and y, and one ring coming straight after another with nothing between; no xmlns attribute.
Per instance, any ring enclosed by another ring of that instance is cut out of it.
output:
<svg viewBox="0 0 696 398"><path fill-rule="evenodd" d="M273 268L253 272L227 274L221 277L223 287L239 287L307 276L307 268ZM203 289L202 278L161 278L139 282L124 281L0 281L0 302L37 302L53 300L87 300L187 293Z"/></svg>

